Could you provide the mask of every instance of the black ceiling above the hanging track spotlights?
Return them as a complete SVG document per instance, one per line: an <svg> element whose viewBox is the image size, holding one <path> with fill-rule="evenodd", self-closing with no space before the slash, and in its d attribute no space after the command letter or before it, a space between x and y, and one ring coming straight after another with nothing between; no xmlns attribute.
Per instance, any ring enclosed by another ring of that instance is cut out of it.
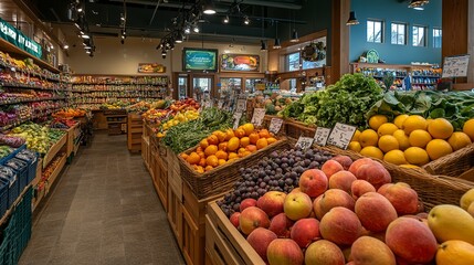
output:
<svg viewBox="0 0 474 265"><path fill-rule="evenodd" d="M69 9L75 0L23 0L30 2L39 18L53 24L73 25ZM127 36L165 38L173 29L185 26L191 13L197 14L199 33L187 35L189 40L257 42L273 39L276 24L304 24L297 18L303 1L307 0L214 0L215 14L202 14L204 0L81 0L89 32L95 36L119 36L120 15L126 13ZM198 12L201 11L201 12ZM229 15L230 22L223 19ZM243 23L244 18L250 24ZM176 21L176 22L175 22ZM75 34L75 28L66 28L65 34Z"/></svg>

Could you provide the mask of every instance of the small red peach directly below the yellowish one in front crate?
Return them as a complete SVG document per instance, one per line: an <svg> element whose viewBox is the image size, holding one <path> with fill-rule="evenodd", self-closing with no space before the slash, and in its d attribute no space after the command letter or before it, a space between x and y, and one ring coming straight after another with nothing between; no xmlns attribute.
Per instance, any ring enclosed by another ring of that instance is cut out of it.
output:
<svg viewBox="0 0 474 265"><path fill-rule="evenodd" d="M319 221L316 219L299 219L293 225L289 236L299 247L307 247L313 241L319 239Z"/></svg>

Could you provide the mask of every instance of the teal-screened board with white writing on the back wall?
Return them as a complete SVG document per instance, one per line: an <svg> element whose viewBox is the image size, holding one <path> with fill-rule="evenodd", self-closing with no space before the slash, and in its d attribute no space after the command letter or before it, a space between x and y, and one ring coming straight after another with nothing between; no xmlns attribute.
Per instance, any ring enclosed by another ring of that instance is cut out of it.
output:
<svg viewBox="0 0 474 265"><path fill-rule="evenodd" d="M182 50L183 71L218 71L218 50L190 49Z"/></svg>

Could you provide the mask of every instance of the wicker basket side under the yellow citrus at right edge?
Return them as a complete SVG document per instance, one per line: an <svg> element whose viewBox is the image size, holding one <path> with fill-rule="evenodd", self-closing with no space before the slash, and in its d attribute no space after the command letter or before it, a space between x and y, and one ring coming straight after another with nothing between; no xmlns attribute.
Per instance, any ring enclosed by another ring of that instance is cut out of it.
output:
<svg viewBox="0 0 474 265"><path fill-rule="evenodd" d="M423 166L432 174L459 177L474 167L474 144Z"/></svg>

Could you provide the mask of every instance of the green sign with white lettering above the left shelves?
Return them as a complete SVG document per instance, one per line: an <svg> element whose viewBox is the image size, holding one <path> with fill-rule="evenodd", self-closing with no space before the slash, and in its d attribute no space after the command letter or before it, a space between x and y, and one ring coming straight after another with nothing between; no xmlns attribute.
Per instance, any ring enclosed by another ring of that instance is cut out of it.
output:
<svg viewBox="0 0 474 265"><path fill-rule="evenodd" d="M0 36L19 49L41 59L43 53L41 45L2 19L0 19Z"/></svg>

